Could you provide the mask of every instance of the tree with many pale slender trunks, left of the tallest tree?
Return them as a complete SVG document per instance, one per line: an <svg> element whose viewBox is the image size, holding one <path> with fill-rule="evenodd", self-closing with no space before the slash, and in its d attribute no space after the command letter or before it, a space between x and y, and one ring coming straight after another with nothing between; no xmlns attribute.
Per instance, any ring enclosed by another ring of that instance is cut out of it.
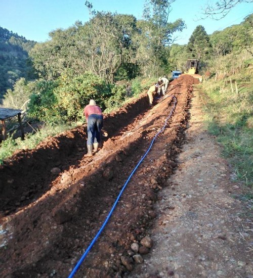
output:
<svg viewBox="0 0 253 278"><path fill-rule="evenodd" d="M110 12L93 12L93 18L83 26L89 44L89 59L94 73L113 83L122 63L130 62L132 35L136 32L136 18Z"/></svg>

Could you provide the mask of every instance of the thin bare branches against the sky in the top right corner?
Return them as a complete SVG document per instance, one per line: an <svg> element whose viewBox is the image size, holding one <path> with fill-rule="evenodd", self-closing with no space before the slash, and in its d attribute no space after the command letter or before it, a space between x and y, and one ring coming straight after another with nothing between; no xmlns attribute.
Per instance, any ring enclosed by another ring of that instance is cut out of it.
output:
<svg viewBox="0 0 253 278"><path fill-rule="evenodd" d="M251 3L253 0L220 0L215 4L208 4L203 10L204 18L220 20L224 18L235 6L240 3Z"/></svg>

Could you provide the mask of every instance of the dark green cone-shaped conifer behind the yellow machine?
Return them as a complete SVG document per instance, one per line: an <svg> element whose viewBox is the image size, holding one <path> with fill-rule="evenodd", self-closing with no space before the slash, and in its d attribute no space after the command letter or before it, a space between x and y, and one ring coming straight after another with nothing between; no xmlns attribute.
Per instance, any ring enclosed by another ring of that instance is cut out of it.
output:
<svg viewBox="0 0 253 278"><path fill-rule="evenodd" d="M211 50L209 36L207 35L204 27L198 25L190 36L188 42L188 50L192 58L200 59L206 58Z"/></svg>

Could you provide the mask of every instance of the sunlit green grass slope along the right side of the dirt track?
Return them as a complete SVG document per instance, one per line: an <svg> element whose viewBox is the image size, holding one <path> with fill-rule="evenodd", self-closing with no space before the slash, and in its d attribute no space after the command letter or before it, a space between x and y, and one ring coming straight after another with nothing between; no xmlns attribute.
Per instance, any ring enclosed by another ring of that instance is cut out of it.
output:
<svg viewBox="0 0 253 278"><path fill-rule="evenodd" d="M223 155L233 165L237 179L252 187L253 82L242 73L233 79L237 80L238 94L223 81L202 84L203 110L208 130L222 144Z"/></svg>

